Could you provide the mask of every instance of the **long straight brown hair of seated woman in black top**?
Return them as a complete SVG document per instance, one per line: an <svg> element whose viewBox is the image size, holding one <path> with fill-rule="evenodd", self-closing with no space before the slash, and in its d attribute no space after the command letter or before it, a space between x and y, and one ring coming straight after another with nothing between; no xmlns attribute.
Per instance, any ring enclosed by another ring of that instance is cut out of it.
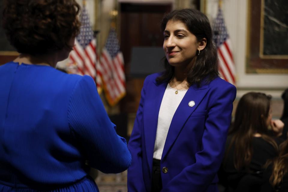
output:
<svg viewBox="0 0 288 192"><path fill-rule="evenodd" d="M277 144L268 136L267 118L269 116L271 96L264 93L249 92L240 99L235 122L229 134L232 135L230 146L235 146L233 163L236 170L249 170L253 149L252 139L254 134L259 133L262 138L270 143L275 149Z"/></svg>

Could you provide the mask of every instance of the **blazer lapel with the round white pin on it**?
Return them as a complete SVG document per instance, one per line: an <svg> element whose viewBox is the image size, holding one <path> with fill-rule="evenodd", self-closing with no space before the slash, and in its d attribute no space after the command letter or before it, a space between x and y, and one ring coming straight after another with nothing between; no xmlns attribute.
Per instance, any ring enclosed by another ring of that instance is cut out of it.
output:
<svg viewBox="0 0 288 192"><path fill-rule="evenodd" d="M163 149L163 153L162 153L161 161L164 160L165 156L167 155L169 149L171 148L176 138L178 137L187 119L189 118L191 113L193 113L193 111L197 108L197 106L200 104L200 102L205 97L208 90L209 90L208 85L204 85L200 88L196 88L196 86L191 86L187 90L170 124L169 131L168 131L167 138L166 138L165 145L164 145L164 149ZM193 107L189 107L188 103L190 101L195 102L195 105Z"/></svg>

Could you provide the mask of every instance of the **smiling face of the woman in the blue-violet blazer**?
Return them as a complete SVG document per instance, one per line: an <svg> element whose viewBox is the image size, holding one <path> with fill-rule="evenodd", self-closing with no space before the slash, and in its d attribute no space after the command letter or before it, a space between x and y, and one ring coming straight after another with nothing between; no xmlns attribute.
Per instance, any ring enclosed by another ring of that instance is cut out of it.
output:
<svg viewBox="0 0 288 192"><path fill-rule="evenodd" d="M196 56L199 42L181 21L169 20L164 30L163 49L172 66L187 66Z"/></svg>

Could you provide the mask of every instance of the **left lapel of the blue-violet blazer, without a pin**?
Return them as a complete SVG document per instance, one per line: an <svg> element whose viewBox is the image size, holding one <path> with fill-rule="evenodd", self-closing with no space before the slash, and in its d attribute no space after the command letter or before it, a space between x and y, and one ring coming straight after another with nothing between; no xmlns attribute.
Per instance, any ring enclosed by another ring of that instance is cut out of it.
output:
<svg viewBox="0 0 288 192"><path fill-rule="evenodd" d="M154 83L151 83L152 87L149 87L149 100L146 100L144 107L144 140L146 156L150 170L152 170L153 151L155 145L154 141L156 139L158 114L162 98L167 87L167 83L168 82L162 82L161 84L157 84L156 81Z"/></svg>

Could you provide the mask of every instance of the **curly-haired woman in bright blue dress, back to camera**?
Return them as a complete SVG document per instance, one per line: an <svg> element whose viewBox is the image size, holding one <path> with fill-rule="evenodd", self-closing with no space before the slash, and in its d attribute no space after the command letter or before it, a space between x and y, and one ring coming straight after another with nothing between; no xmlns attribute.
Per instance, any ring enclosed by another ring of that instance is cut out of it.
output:
<svg viewBox="0 0 288 192"><path fill-rule="evenodd" d="M79 10L75 0L4 2L20 55L0 66L0 191L98 191L90 166L119 173L131 163L94 80L55 69L72 50Z"/></svg>

